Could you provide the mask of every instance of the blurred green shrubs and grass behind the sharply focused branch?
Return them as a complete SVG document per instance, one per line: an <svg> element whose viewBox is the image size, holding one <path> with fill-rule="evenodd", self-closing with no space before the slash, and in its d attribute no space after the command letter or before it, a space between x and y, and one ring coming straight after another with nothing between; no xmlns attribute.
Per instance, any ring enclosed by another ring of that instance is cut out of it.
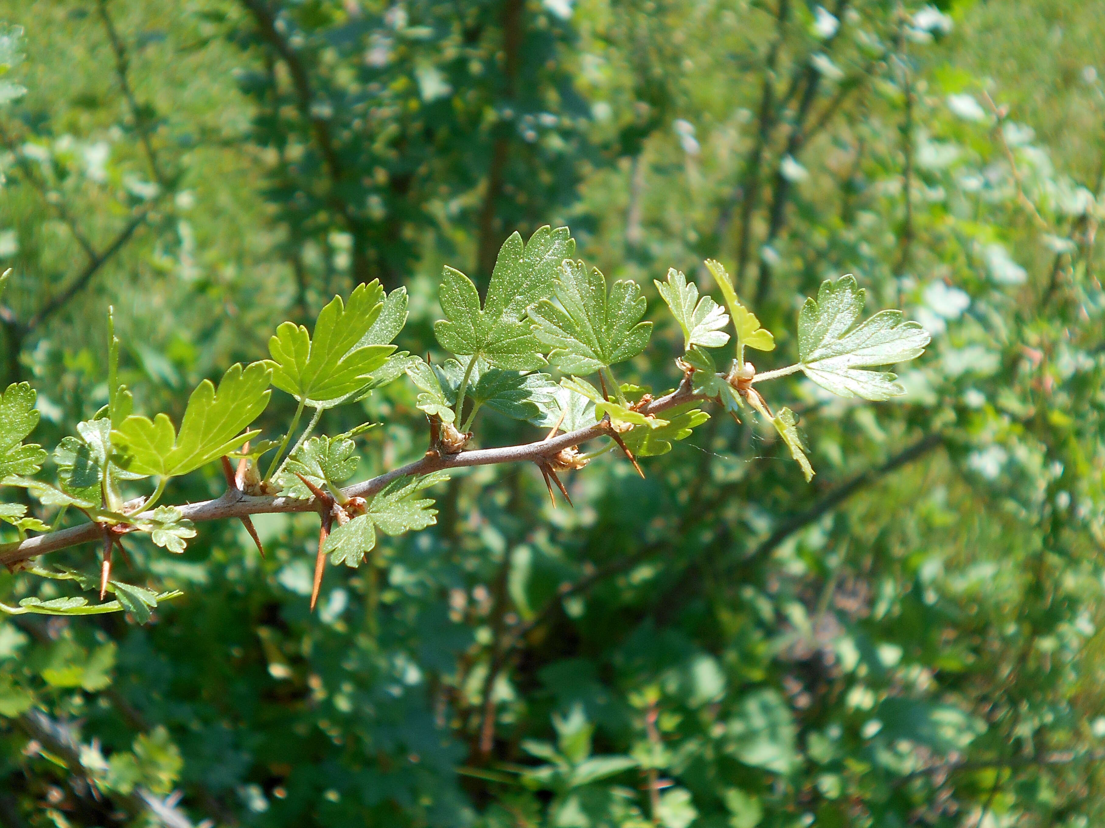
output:
<svg viewBox="0 0 1105 828"><path fill-rule="evenodd" d="M136 411L179 423L373 278L442 362L442 266L482 290L545 224L641 287L622 379L657 391L683 333L653 279L708 291L705 258L775 333L760 371L845 273L934 336L894 402L770 386L809 485L717 411L646 479L569 473L575 508L473 469L436 526L328 567L315 614L313 516L257 516L264 560L230 521L180 555L135 539L119 571L185 593L149 624L0 620L0 821L1099 825L1105 6L936 6L0 0L27 89L0 110L3 365L48 447L108 402L108 305ZM355 479L421 456L418 393L323 416L383 423ZM475 439L540 434L485 412ZM208 465L166 498L223 487ZM6 603L62 586L0 576Z"/></svg>

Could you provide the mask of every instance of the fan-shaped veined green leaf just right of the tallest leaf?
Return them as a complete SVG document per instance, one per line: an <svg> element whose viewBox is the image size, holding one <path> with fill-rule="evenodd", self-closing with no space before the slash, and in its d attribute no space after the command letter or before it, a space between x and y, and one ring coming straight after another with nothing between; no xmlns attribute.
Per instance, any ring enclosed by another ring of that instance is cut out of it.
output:
<svg viewBox="0 0 1105 828"><path fill-rule="evenodd" d="M529 311L534 333L554 350L549 361L569 374L591 374L632 359L649 344L652 322L642 322L648 307L633 282L615 282L608 295L599 269L566 259L556 280L559 306L541 299Z"/></svg>

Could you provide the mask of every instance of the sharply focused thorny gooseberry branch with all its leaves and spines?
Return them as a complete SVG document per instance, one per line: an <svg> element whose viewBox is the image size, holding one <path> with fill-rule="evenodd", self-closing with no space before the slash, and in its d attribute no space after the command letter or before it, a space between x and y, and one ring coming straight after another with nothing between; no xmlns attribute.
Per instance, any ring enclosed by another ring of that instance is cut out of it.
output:
<svg viewBox="0 0 1105 828"><path fill-rule="evenodd" d="M797 417L786 405L772 405L761 383L802 372L843 397L888 400L905 390L895 374L881 369L918 357L929 341L928 332L905 321L898 310L861 322L864 290L848 275L824 282L817 298L802 305L798 361L758 372L746 357L751 350L774 350L775 338L740 302L725 267L711 259L706 272L724 305L675 269L655 282L683 342L674 361L677 382L653 393L623 381L632 379L625 364L649 347L652 336L641 287L631 280L610 284L575 254L567 227L540 227L526 243L514 233L499 250L482 301L472 280L446 266L439 290L444 319L435 322L434 333L450 355L440 362L397 350L408 316L406 288L386 293L376 280L358 285L348 299L336 296L326 305L312 331L283 322L270 340L271 359L233 364L218 385L203 380L179 427L165 413L148 417L134 412L134 397L117 379L119 340L109 316L108 402L80 423L75 435L52 453L25 442L39 420L35 392L25 382L10 385L0 401L2 484L22 489L31 501L0 506L0 519L19 535L0 548L0 560L31 576L72 581L83 591L98 592L99 601L27 597L18 605L0 603L0 609L12 615L125 611L145 623L160 602L181 593L112 577L113 552L125 552L127 535L144 533L166 552L181 553L196 537L196 523L239 519L263 554L251 514L312 510L320 518L314 608L327 559L356 567L372 553L379 533L398 535L432 526L436 510L424 492L450 474L471 466L533 463L554 502L554 486L570 502L569 471L617 450L644 476L641 458L664 454L673 440L688 437L709 418L707 403L734 418L758 416L770 423L809 481L814 471ZM734 344L734 351L725 350ZM425 454L344 486L359 464L357 437L379 424L315 435L323 412L362 401L404 376L418 388L417 406L428 421ZM253 426L272 389L295 399L295 414L283 435L259 439L262 432ZM530 443L475 448L483 410L543 431ZM581 447L592 442L603 445L585 453ZM54 480L41 474L51 456ZM221 497L160 502L170 479L217 461L227 479ZM136 493L143 485L152 490ZM65 526L74 512L86 520ZM39 562L49 552L80 543L98 546L98 578ZM106 601L107 593L113 601Z"/></svg>

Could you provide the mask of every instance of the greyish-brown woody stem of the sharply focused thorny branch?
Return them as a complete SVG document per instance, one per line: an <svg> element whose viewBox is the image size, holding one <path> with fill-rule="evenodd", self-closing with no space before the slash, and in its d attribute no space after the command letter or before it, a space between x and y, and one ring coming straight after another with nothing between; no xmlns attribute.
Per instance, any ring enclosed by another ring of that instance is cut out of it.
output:
<svg viewBox="0 0 1105 828"><path fill-rule="evenodd" d="M678 389L666 396L641 406L642 414L659 414L667 408L675 407L693 400L702 397L694 394L691 383L684 379ZM577 446L597 437L609 437L615 432L610 427L609 420L596 423L587 428L561 434L549 439L536 443L526 443L519 446L505 446L503 448L477 448L460 454L441 454L431 449L425 455L413 463L409 463L387 474L365 480L356 486L343 489L346 497L368 498L380 491L392 480L417 475L428 475L431 471L442 471L454 468L469 468L471 466L491 466L501 463L536 463L548 460L555 457L562 449ZM129 503L128 508L134 509L141 505L141 501ZM297 500L288 497L259 497L245 495L236 489L228 489L227 492L214 500L204 500L199 503L187 503L179 507L182 517L193 522L208 520L224 520L227 518L242 518L251 514L263 514L271 512L309 512L318 511L318 503L315 499ZM149 517L149 516L147 516ZM84 523L70 529L62 529L56 532L28 538L18 543L10 543L0 546L0 564L12 566L21 561L38 558L48 552L56 552L61 549L75 546L90 541L103 539L103 530L98 523Z"/></svg>

